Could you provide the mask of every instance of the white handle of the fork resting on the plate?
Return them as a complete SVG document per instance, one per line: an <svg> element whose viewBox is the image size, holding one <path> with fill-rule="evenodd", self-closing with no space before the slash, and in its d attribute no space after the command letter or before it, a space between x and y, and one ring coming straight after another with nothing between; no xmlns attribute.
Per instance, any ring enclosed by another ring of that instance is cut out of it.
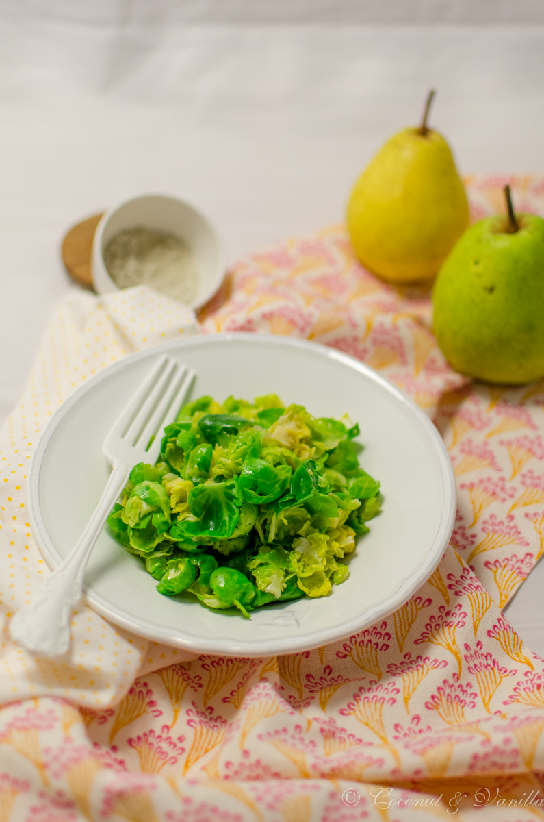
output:
<svg viewBox="0 0 544 822"><path fill-rule="evenodd" d="M38 597L12 618L12 639L39 656L54 658L67 653L70 645L71 609L81 598L83 577L90 552L104 528L108 514L127 483L130 469L113 461L108 483L76 546L51 575Z"/></svg>

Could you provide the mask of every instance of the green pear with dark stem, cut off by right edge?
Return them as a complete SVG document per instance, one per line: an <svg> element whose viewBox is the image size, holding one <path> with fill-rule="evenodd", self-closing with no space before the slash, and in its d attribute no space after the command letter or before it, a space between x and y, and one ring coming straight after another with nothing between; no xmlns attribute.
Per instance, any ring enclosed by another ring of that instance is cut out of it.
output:
<svg viewBox="0 0 544 822"><path fill-rule="evenodd" d="M433 326L457 371L515 385L544 375L544 219L505 193L509 217L474 224L441 267Z"/></svg>

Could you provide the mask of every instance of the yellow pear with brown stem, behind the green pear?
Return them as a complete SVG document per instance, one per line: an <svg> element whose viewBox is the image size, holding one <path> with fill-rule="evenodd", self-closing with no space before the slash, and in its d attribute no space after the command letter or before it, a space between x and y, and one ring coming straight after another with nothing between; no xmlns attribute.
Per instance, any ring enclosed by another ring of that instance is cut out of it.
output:
<svg viewBox="0 0 544 822"><path fill-rule="evenodd" d="M426 126L406 128L382 146L348 201L357 259L392 283L435 277L468 227L468 202L449 145Z"/></svg>

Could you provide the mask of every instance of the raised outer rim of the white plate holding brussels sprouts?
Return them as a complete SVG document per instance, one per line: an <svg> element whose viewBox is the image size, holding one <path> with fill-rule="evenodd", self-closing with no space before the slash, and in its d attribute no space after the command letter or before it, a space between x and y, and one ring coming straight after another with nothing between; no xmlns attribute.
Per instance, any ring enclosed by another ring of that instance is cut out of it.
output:
<svg viewBox="0 0 544 822"><path fill-rule="evenodd" d="M213 640L197 640L191 636L179 636L179 631L173 635L172 628L160 628L158 626L146 623L145 620L137 623L122 610L122 607L112 606L109 600L105 600L99 593L95 593L92 589L84 589L82 601L88 604L93 610L112 622L115 626L120 626L124 630L128 630L131 634L143 636L145 639L163 642L175 648L181 648L191 653L211 653L220 656L246 656L250 658L273 656L275 654L284 653L299 653L319 647L321 645L330 644L335 641L340 641L346 637L357 634L371 626L381 618L388 617L417 591L420 586L426 582L433 571L438 566L445 549L449 543L449 537L454 527L455 513L456 513L456 487L454 479L454 471L449 459L448 451L445 443L440 436L436 426L431 419L427 417L426 413L406 395L403 390L396 386L394 382L390 381L386 376L377 372L366 363L353 357L351 354L343 353L338 349L330 348L330 346L316 343L307 339L299 339L297 337L286 337L273 334L260 334L251 331L236 331L236 332L220 332L217 334L197 334L190 337L180 337L179 339L167 340L164 343L151 346L150 348L136 351L128 354L126 357L118 360L116 363L108 365L100 372L90 377L88 381L78 388L58 407L53 413L53 417L48 421L44 431L39 436L39 441L35 447L32 459L30 461L30 471L26 481L27 490L27 506L29 510L31 533L35 538L36 544L40 552L44 555L48 566L52 569L56 568L62 561L62 556L58 553L53 544L53 540L49 537L48 529L45 525L43 515L39 506L39 479L44 455L48 448L48 443L54 432L57 431L58 426L62 420L70 412L71 408L78 403L85 394L93 390L95 385L108 378L114 372L126 367L127 363L133 363L136 360L145 359L156 354L167 353L171 349L184 349L193 345L215 344L218 340L228 342L244 341L251 339L252 344L270 344L274 346L285 346L286 348L297 348L311 353L320 353L322 356L339 361L344 365L354 368L356 371L364 374L371 381L378 383L382 388L394 395L395 399L399 400L409 411L415 415L419 423L422 424L426 435L429 436L431 442L435 446L436 456L440 468L440 478L443 483L444 501L442 511L440 513L440 522L434 538L431 541L429 549L426 553L424 561L420 566L409 575L407 579L399 585L399 588L393 594L381 603L367 608L362 614L349 622L342 623L342 626L334 626L328 630L316 630L308 635L306 638L298 638L296 635L286 637L274 637L266 639L261 637L259 640L251 640L239 643L234 640L229 640L230 644L227 649L218 648L217 642ZM449 503L449 505L448 505ZM293 603L285 603L282 611L288 607L293 607ZM315 639L312 639L312 636ZM319 638L318 638L319 637ZM224 642L222 643L224 644Z"/></svg>

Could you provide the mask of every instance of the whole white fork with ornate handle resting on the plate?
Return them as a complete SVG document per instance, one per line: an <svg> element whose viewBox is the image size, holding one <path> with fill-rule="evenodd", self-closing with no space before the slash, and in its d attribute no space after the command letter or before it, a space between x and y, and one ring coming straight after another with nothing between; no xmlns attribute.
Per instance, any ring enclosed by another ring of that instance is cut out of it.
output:
<svg viewBox="0 0 544 822"><path fill-rule="evenodd" d="M106 437L104 455L112 473L89 522L73 551L44 580L35 602L12 618L12 639L31 653L49 658L67 653L71 609L81 599L85 568L99 533L134 465L156 462L160 430L175 419L194 377L195 372L172 358L160 358Z"/></svg>

